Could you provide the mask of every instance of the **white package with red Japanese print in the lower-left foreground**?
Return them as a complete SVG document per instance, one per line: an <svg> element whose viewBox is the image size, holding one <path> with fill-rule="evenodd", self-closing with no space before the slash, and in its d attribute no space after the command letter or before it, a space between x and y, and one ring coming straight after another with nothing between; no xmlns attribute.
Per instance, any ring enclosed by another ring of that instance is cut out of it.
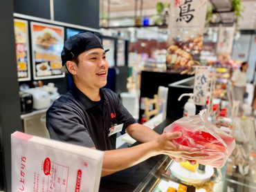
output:
<svg viewBox="0 0 256 192"><path fill-rule="evenodd" d="M98 191L103 151L15 132L12 191Z"/></svg>

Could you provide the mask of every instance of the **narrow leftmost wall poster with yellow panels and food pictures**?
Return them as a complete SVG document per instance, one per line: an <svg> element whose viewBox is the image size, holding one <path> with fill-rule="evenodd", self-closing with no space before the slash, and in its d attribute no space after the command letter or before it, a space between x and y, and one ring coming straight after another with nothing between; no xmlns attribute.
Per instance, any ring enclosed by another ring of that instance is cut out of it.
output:
<svg viewBox="0 0 256 192"><path fill-rule="evenodd" d="M28 21L14 19L18 81L30 81Z"/></svg>

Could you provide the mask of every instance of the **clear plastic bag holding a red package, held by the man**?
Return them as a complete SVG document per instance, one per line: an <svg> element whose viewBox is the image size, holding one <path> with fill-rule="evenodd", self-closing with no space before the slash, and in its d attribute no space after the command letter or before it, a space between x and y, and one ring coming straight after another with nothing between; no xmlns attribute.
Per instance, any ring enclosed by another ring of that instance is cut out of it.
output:
<svg viewBox="0 0 256 192"><path fill-rule="evenodd" d="M199 164L221 168L235 148L235 138L210 124L206 109L199 115L183 117L165 127L164 133L181 131L182 136L174 141L184 146L204 148L209 156L196 160Z"/></svg>

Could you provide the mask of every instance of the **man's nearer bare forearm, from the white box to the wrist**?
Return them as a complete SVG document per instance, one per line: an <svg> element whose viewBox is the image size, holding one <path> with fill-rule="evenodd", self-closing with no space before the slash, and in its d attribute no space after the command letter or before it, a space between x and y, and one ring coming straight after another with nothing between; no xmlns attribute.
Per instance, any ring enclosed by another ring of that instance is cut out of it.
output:
<svg viewBox="0 0 256 192"><path fill-rule="evenodd" d="M102 177L127 169L147 160L149 157L158 155L157 145L158 142L155 140L130 148L104 151Z"/></svg>

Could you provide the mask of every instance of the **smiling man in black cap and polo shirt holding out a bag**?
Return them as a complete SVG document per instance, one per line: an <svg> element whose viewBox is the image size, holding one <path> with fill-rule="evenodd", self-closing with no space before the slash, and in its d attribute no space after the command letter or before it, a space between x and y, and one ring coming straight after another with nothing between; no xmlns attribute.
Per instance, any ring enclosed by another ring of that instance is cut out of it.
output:
<svg viewBox="0 0 256 192"><path fill-rule="evenodd" d="M73 88L48 109L46 125L53 140L104 151L102 176L134 166L149 157L170 155L195 162L200 149L176 144L180 132L158 135L136 123L107 84L109 64L101 40L91 32L74 35L62 50L62 69L73 75ZM128 133L141 144L116 149L116 133Z"/></svg>

